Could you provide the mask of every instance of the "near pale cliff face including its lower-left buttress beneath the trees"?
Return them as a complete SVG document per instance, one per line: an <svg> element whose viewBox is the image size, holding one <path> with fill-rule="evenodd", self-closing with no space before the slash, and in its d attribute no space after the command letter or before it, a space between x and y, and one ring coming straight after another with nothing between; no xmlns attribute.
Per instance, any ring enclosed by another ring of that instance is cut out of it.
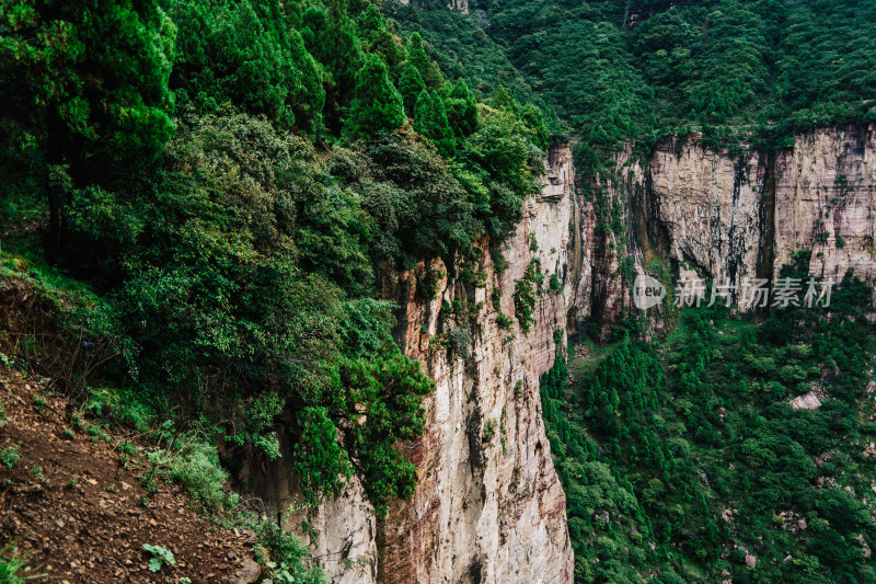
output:
<svg viewBox="0 0 876 584"><path fill-rule="evenodd" d="M283 459L241 470L262 485L268 513L292 506L286 528L311 543L332 582L572 582L565 495L544 434L539 377L553 365L557 341L565 343L568 305L578 291L570 285L550 290L551 275L570 282L568 266L580 268L590 254L574 228L583 218L568 147L554 148L545 168L542 193L525 202L505 245L504 271L484 244L466 266L436 261L384 275L384 297L400 306L395 340L436 382L425 403L426 433L405 445L418 474L408 501L378 520L354 480L341 496L306 507ZM525 334L514 294L530 264L544 279L535 323ZM589 268L581 273L591 277ZM442 305L456 308L442 311ZM503 327L499 313L510 324ZM449 348L450 339L466 342Z"/></svg>

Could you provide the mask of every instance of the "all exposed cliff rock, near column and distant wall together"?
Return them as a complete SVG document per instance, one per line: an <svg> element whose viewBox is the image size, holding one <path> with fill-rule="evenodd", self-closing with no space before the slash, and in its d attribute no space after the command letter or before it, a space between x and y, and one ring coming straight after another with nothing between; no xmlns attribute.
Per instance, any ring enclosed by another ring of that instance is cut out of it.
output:
<svg viewBox="0 0 876 584"><path fill-rule="evenodd" d="M557 343L622 318L635 273L739 286L776 277L809 250L811 274L839 282L853 270L873 282L874 156L872 127L820 129L771 153L711 149L692 136L648 160L622 153L613 176L584 180L568 146L555 146L542 192L525 202L505 247L505 270L484 244L474 277L440 261L384 275L384 297L400 306L396 342L436 381L426 432L405 445L415 494L376 519L354 481L319 508L298 508L287 527L310 539L337 583L572 582L565 495L539 398ZM533 262L544 280L525 334L514 294ZM249 472L264 476L266 501L297 508L288 469Z"/></svg>

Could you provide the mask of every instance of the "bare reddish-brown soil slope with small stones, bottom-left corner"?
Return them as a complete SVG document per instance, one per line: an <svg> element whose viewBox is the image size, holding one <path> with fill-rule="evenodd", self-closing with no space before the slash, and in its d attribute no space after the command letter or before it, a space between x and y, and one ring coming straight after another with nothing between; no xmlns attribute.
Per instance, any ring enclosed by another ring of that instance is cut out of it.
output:
<svg viewBox="0 0 876 584"><path fill-rule="evenodd" d="M32 582L104 584L123 582L251 582L235 576L244 561L252 568L253 534L221 528L193 511L177 485L159 482L147 492L137 474L147 466L119 462L123 436L94 442L70 428L71 405L58 397L34 398L43 390L33 380L0 367L0 450L19 445L21 459L0 463L0 548L14 542L27 557ZM41 412L42 410L42 412ZM42 472L35 467L39 467ZM143 543L170 549L176 564L147 569Z"/></svg>

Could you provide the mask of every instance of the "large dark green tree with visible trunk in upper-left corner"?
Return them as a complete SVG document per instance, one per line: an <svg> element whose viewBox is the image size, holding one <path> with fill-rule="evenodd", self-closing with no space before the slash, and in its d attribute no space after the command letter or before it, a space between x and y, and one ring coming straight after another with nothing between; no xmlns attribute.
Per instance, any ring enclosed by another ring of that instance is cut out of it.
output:
<svg viewBox="0 0 876 584"><path fill-rule="evenodd" d="M64 181L87 161L151 158L173 135L168 80L176 28L157 0L0 0L0 127L47 165L49 247L64 232Z"/></svg>

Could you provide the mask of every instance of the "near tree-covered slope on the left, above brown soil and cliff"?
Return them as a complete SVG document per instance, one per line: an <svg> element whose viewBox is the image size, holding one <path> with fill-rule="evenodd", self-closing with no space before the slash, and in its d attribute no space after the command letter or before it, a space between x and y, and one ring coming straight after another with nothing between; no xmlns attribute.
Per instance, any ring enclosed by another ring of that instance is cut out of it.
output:
<svg viewBox="0 0 876 584"><path fill-rule="evenodd" d="M0 275L51 322L3 363L171 449L291 457L311 504L354 474L378 515L410 496L433 382L381 272L502 244L541 111L369 2L9 0L0 35Z"/></svg>

